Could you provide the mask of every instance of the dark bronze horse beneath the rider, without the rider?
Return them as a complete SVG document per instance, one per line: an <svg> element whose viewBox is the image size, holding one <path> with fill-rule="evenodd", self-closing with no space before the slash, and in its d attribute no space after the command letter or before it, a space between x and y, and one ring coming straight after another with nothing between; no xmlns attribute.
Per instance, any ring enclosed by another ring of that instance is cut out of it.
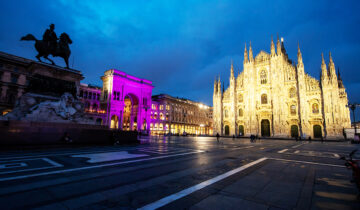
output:
<svg viewBox="0 0 360 210"><path fill-rule="evenodd" d="M51 64L55 65L54 61L48 58L49 55L53 57L62 57L66 63L66 68L69 68L69 57L71 54L69 44L72 43L69 35L66 33L62 33L60 35L59 42L56 44L56 49L52 49L49 45L44 42L43 40L36 39L32 34L28 34L26 36L21 37L22 41L35 41L35 49L38 52L36 58L40 61L40 57L45 58L46 60L50 61Z"/></svg>

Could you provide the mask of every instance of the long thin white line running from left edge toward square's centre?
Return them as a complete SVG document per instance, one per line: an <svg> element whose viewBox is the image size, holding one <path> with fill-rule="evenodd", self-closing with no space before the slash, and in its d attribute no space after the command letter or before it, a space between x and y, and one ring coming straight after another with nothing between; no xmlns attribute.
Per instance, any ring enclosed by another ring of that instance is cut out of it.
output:
<svg viewBox="0 0 360 210"><path fill-rule="evenodd" d="M74 171L82 171L82 170L88 170L88 169L94 169L94 168L102 168L102 167L108 167L108 166L117 166L117 165L123 165L127 163L136 163L136 162L142 162L142 161L149 161L149 160L158 160L158 159L164 159L168 157L177 157L177 156L183 156L183 155L189 155L189 154L197 154L202 153L204 151L197 150L194 152L187 152L187 153L180 153L180 154L174 154L174 155L164 155L159 157L153 157L153 158L147 158L147 159L138 159L138 160L129 160L124 161L120 163L106 163L106 164L100 164L100 165L94 165L94 166L85 166L80 168L71 168L71 169L64 169L64 170L58 170L58 171L49 171L49 172L43 172L43 173L37 173L37 174L28 174L28 175L22 175L22 176L14 176L14 177L5 177L0 178L0 182L3 181L9 181L9 180L17 180L17 179L26 179L30 177L38 177L38 176L45 176L45 175L51 175L51 174L61 174L61 173L68 173L68 172L74 172Z"/></svg>

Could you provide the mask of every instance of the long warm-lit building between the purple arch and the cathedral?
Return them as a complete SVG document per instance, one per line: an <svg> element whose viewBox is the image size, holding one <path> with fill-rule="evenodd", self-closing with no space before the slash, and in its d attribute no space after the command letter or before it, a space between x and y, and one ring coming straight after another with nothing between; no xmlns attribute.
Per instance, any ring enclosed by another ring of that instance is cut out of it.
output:
<svg viewBox="0 0 360 210"><path fill-rule="evenodd" d="M212 135L212 109L166 94L152 97L151 134Z"/></svg>

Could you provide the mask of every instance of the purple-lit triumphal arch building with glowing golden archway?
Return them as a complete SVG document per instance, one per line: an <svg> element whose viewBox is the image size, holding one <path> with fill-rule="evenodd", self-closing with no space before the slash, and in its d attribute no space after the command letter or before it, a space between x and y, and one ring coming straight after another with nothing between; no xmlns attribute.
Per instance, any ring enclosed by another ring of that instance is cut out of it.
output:
<svg viewBox="0 0 360 210"><path fill-rule="evenodd" d="M101 77L100 109L104 125L121 130L150 132L152 82L110 69Z"/></svg>

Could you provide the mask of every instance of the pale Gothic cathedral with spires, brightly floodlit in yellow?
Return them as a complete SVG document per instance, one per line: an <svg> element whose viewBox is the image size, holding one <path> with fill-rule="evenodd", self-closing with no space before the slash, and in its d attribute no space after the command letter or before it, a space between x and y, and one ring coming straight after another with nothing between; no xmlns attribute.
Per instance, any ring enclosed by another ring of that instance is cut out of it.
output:
<svg viewBox="0 0 360 210"><path fill-rule="evenodd" d="M298 47L297 64L286 53L283 41L271 40L270 54L253 57L244 51L244 68L237 76L231 64L230 85L221 90L215 79L214 134L251 134L271 137L338 138L350 128L345 87L336 74L331 54L322 56L320 81L304 70Z"/></svg>

